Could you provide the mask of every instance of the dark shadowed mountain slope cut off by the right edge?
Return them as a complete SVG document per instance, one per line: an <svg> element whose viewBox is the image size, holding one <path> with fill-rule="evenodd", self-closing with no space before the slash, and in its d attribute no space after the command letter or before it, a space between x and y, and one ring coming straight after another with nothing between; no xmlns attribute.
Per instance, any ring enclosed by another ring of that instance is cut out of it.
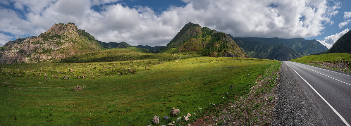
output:
<svg viewBox="0 0 351 126"><path fill-rule="evenodd" d="M326 53L351 53L351 30L340 37Z"/></svg>

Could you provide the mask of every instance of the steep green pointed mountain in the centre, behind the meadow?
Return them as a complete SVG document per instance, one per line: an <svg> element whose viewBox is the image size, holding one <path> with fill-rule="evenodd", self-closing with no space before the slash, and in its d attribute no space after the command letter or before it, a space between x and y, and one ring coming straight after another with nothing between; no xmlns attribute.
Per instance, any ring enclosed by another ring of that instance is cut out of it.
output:
<svg viewBox="0 0 351 126"><path fill-rule="evenodd" d="M248 57L227 34L189 22L160 53L193 52L211 57Z"/></svg>

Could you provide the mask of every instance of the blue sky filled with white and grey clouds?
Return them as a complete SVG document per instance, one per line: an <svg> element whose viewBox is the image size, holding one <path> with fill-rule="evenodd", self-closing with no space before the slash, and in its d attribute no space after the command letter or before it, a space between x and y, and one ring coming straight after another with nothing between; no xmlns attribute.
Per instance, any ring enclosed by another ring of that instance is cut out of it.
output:
<svg viewBox="0 0 351 126"><path fill-rule="evenodd" d="M188 22L234 37L316 39L351 29L350 0L0 0L0 46L73 22L104 42L166 46Z"/></svg>

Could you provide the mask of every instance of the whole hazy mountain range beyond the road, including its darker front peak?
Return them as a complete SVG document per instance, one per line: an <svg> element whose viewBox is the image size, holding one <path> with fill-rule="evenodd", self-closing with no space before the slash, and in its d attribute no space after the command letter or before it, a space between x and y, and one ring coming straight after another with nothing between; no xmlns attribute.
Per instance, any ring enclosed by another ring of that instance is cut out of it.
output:
<svg viewBox="0 0 351 126"><path fill-rule="evenodd" d="M304 38L238 38L228 34L240 47L243 47L250 58L276 59L287 61L300 58L315 52L323 52L327 48L317 40ZM279 52L279 53L278 53Z"/></svg>

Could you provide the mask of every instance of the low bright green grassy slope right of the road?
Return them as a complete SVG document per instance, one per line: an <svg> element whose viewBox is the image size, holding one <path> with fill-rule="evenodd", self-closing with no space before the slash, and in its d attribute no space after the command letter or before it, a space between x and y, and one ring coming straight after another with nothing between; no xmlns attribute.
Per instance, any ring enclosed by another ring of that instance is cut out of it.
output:
<svg viewBox="0 0 351 126"><path fill-rule="evenodd" d="M324 62L324 61L336 61L340 59L345 59L346 61L351 61L351 54L347 53L328 53L328 54L320 54L320 55L309 55L297 59L292 59L294 62Z"/></svg>

